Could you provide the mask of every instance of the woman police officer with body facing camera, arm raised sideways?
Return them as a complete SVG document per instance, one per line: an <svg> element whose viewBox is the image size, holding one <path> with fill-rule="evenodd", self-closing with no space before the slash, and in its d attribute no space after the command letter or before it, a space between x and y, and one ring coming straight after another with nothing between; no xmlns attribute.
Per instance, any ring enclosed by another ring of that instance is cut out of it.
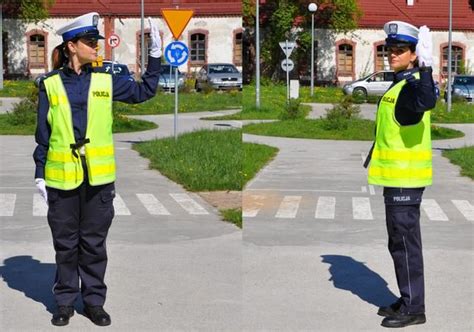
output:
<svg viewBox="0 0 474 332"><path fill-rule="evenodd" d="M35 182L46 199L56 251L52 324L67 325L79 294L84 313L100 326L107 287L106 237L114 217L115 158L112 101L140 103L155 95L161 57L158 28L150 22L151 45L143 83L94 72L99 15L88 13L60 28L63 42L52 54L53 71L40 83ZM80 285L80 286L79 286Z"/></svg>

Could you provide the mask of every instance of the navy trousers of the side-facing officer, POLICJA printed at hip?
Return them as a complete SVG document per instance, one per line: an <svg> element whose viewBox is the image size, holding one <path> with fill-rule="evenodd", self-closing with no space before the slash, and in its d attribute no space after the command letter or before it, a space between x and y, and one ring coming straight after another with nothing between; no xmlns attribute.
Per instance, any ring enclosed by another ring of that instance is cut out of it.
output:
<svg viewBox="0 0 474 332"><path fill-rule="evenodd" d="M384 188L388 249L400 290L401 312L425 312L425 284L420 231L424 188Z"/></svg>

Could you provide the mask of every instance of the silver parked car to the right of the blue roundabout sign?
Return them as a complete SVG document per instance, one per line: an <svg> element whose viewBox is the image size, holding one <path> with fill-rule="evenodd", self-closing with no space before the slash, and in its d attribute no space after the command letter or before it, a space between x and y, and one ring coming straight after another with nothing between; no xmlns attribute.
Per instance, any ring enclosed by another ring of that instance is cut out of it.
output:
<svg viewBox="0 0 474 332"><path fill-rule="evenodd" d="M242 90L242 74L230 63L209 63L196 76L196 91L208 84L214 89Z"/></svg>

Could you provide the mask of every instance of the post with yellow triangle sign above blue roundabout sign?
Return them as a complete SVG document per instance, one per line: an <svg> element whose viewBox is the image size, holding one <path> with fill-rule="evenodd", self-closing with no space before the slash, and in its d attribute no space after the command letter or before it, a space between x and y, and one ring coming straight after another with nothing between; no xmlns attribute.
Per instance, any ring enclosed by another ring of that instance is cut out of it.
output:
<svg viewBox="0 0 474 332"><path fill-rule="evenodd" d="M165 59L171 66L176 66L174 72L174 139L178 140L178 67L188 61L189 50L187 46L177 41L188 25L194 11L189 9L162 9L161 14L170 29L174 42L165 49Z"/></svg>

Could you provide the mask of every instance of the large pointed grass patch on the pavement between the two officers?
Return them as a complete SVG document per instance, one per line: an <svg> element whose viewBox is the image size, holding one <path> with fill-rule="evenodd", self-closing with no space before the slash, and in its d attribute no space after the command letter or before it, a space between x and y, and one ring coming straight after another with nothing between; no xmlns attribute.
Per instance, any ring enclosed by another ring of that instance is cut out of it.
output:
<svg viewBox="0 0 474 332"><path fill-rule="evenodd" d="M278 149L242 143L241 130L199 130L133 145L172 181L191 191L242 190Z"/></svg>

